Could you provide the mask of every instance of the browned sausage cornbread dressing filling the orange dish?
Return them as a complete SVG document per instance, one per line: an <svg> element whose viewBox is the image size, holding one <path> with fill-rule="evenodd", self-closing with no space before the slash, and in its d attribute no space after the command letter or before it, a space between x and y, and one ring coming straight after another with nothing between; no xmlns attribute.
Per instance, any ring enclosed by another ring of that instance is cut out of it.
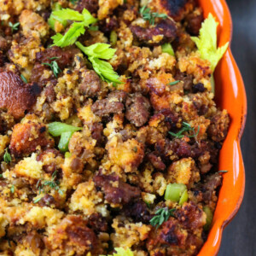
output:
<svg viewBox="0 0 256 256"><path fill-rule="evenodd" d="M1 255L198 253L230 122L201 8L4 0L0 19Z"/></svg>

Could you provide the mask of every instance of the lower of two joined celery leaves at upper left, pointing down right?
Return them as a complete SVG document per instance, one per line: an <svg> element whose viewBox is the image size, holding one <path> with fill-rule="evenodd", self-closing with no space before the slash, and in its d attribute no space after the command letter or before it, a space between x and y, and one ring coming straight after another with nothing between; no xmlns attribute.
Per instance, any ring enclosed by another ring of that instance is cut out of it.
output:
<svg viewBox="0 0 256 256"><path fill-rule="evenodd" d="M110 60L113 58L116 49L111 49L109 44L101 43L92 44L89 47L85 47L79 42L77 42L76 45L84 52L85 55L88 55L88 59L90 60L92 67L102 80L108 83L122 83L119 80L118 73L114 72L113 67L107 61L100 60Z"/></svg>

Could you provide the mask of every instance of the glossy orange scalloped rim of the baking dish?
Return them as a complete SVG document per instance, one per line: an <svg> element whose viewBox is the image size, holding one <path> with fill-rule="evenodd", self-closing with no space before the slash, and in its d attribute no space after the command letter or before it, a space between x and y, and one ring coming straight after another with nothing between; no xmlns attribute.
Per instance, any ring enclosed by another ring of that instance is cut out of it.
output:
<svg viewBox="0 0 256 256"><path fill-rule="evenodd" d="M231 41L232 20L224 0L199 0L205 18L209 12L219 22L219 45ZM247 115L247 98L241 73L236 65L230 48L218 64L214 73L216 83L216 102L230 114L230 130L220 151L218 170L224 173L223 186L220 189L218 204L212 221L212 230L201 248L200 256L212 256L218 253L224 227L236 215L244 195L245 170L243 166L240 140Z"/></svg>

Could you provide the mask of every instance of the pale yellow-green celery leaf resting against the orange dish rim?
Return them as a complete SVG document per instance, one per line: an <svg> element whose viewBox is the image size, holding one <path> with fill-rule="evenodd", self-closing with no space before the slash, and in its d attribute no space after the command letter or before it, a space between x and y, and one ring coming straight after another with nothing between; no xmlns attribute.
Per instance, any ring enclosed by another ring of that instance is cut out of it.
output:
<svg viewBox="0 0 256 256"><path fill-rule="evenodd" d="M224 46L217 48L217 26L218 22L210 13L207 19L202 23L199 38L191 38L195 42L201 58L211 62L212 72L229 46L228 42L224 44Z"/></svg>

